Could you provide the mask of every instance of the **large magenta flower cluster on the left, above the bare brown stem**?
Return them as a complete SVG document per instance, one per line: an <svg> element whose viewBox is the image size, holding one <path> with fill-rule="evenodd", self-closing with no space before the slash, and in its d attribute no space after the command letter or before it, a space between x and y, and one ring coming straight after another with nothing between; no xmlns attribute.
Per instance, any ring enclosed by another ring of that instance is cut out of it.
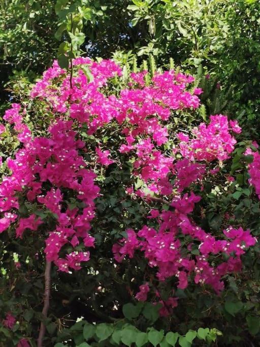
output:
<svg viewBox="0 0 260 347"><path fill-rule="evenodd" d="M13 104L5 115L10 123L21 122L19 105ZM99 195L99 187L94 184L95 174L86 169L83 157L78 150L85 144L76 140L72 130L72 121L57 120L49 129L49 138L30 136L23 142L23 147L15 154L15 159L8 159L7 166L12 171L0 185L0 208L4 217L0 219L0 232L16 223L16 237L22 238L25 230L37 231L44 224L44 219L35 213L28 217L18 217L19 195L25 194L29 202L37 202L39 207L50 211L56 218L55 230L50 230L44 249L46 259L54 261L59 270L80 269L82 261L89 260L89 251L74 251L65 259L59 258L63 245L77 246L80 240L86 247L93 247L94 238L88 234L90 223L95 215L93 200ZM21 127L24 132L25 127ZM20 130L20 128L19 128ZM26 133L27 130L26 130ZM21 133L20 133L21 134ZM19 136L19 135L18 135ZM47 185L51 184L50 190ZM61 193L69 190L85 204L82 211L70 209Z"/></svg>

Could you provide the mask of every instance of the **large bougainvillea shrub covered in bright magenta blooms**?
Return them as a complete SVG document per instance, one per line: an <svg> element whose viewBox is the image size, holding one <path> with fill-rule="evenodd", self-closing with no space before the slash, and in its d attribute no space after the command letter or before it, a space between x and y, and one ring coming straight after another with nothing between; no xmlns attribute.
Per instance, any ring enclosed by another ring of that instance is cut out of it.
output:
<svg viewBox="0 0 260 347"><path fill-rule="evenodd" d="M3 264L13 255L3 273L14 291L1 311L5 338L13 331L20 346L35 345L47 263L46 345L81 317L125 317L141 330L157 324L186 332L209 326L214 305L227 321L242 309L230 283L235 288L247 273L244 259L257 248L257 233L234 217L236 206L224 211L217 204L251 194L249 184L259 194L259 154L248 141L235 161L242 130L222 114L202 121L201 93L178 71L126 78L112 60L79 57L70 72L54 62L28 103L6 111L1 136L12 134L19 146L3 153L0 185ZM49 115L42 134L39 105ZM242 169L235 165L242 156L254 160L245 164L251 178L239 190ZM27 302L17 285L26 281L33 281L26 295L34 297ZM138 307L134 316L127 302ZM247 317L252 329L255 312ZM224 330L223 322L213 319L209 327Z"/></svg>

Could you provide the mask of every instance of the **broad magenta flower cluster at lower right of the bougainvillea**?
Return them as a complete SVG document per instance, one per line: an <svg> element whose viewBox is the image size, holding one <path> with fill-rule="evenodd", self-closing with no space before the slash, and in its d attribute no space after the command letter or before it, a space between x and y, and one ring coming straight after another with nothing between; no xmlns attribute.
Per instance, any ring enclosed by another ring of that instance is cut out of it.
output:
<svg viewBox="0 0 260 347"><path fill-rule="evenodd" d="M193 193L174 198L171 203L174 211L163 211L156 216L158 231L148 226L144 226L137 233L128 229L127 239L122 239L113 246L115 259L122 262L126 255L134 258L135 252L140 250L148 265L157 269L159 280L176 276L177 287L185 289L190 279L195 283L210 285L219 294L223 289L222 276L241 270L241 255L246 248L254 245L256 240L249 230L244 231L242 228L230 227L224 230L223 236L226 238L220 240L205 232L189 216L194 204L200 199ZM191 259L187 249L182 248L178 238L180 234L191 236L193 242L189 246L197 246L199 249L199 255L194 259ZM211 255L228 255L229 258L224 261L222 257L222 262L214 266L210 265ZM138 299L143 298L141 293L138 294Z"/></svg>

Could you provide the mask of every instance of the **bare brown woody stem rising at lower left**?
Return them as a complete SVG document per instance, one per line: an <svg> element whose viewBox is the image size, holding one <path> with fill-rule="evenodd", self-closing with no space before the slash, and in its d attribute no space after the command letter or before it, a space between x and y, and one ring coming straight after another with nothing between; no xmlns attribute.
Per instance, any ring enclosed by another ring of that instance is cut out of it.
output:
<svg viewBox="0 0 260 347"><path fill-rule="evenodd" d="M43 317L47 318L49 306L50 306L50 292L51 292L51 262L46 260L45 266L45 290L44 290L44 305L43 305ZM39 331L39 337L37 340L37 347L43 347L43 338L45 335L46 327L43 322L41 322L41 327Z"/></svg>

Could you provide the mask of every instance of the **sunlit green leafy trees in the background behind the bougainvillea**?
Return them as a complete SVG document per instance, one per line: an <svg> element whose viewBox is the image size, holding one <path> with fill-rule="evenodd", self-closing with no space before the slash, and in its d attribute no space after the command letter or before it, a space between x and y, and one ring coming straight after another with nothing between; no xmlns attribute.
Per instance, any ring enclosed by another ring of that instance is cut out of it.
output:
<svg viewBox="0 0 260 347"><path fill-rule="evenodd" d="M22 72L32 81L56 56L56 39L68 41L60 30L64 18L56 15L55 4L2 0L3 101L8 99L8 93L3 94L3 85L10 80L12 71ZM259 103L260 7L257 1L77 0L60 4L72 4L75 22L76 18L82 20L83 54L108 58L117 51L121 61L138 54L141 62L152 53L159 65L168 64L171 57L176 65L192 73L202 65L204 74L210 73L215 86L219 82L225 96L225 100L218 101L219 108L224 105L226 111L242 121L255 118ZM215 87L210 99L214 92ZM212 111L209 104L208 107ZM250 132L256 137L257 124L250 124Z"/></svg>

